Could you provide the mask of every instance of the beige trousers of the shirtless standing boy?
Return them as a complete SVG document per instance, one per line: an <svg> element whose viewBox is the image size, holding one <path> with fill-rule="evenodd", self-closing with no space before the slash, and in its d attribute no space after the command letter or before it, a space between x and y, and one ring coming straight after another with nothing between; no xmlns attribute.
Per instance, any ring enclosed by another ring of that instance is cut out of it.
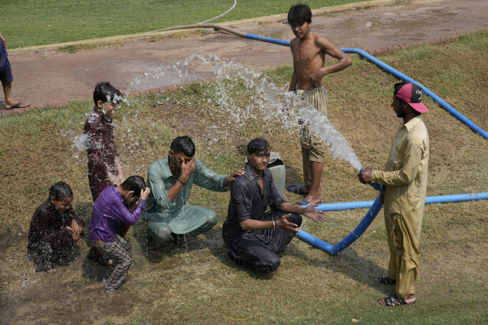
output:
<svg viewBox="0 0 488 325"><path fill-rule="evenodd" d="M329 101L323 87L313 90L297 90L296 93L322 115L329 117ZM312 161L324 163L326 148L322 138L317 137L315 133L310 134L308 125L304 125L300 129L300 146L303 160L303 181L305 186L310 187L312 185Z"/></svg>

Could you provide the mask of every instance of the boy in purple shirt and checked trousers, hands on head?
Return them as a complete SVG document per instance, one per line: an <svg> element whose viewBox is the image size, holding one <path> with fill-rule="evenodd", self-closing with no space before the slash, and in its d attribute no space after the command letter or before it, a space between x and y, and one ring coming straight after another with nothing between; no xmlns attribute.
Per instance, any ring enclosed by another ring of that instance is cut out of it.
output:
<svg viewBox="0 0 488 325"><path fill-rule="evenodd" d="M113 263L103 278L105 286L102 291L112 293L124 281L131 267L131 244L117 234L121 222L134 224L139 220L146 206L146 199L150 189L146 187L140 176L131 176L120 186L112 185L105 188L95 201L92 221L89 224L89 240L103 255ZM138 199L139 203L134 212L127 206Z"/></svg>

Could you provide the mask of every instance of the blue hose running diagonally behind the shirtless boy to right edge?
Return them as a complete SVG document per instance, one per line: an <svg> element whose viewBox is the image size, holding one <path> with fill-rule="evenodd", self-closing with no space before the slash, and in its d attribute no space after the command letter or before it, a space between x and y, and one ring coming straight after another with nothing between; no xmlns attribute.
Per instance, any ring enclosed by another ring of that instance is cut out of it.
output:
<svg viewBox="0 0 488 325"><path fill-rule="evenodd" d="M270 38L270 37L258 36L258 35L254 35L254 34L246 34L245 37L248 38L248 39L253 39L253 40L258 40L258 41L263 41L263 42L269 42L269 43L275 43L275 44L290 46L290 42L289 41L284 41L284 40L279 40L279 39L273 39L273 38ZM414 84L420 86L422 88L423 92L426 95L430 96L434 100L434 102L436 102L437 104L439 104L440 107L442 107L444 110L446 110L447 112L449 112L452 116L454 116L455 118L457 118L458 120L460 120L461 122L463 122L464 124L466 124L469 128L472 129L473 132L476 132L479 135L481 135L483 138L488 139L488 133L486 131L484 131L478 125L474 124L466 116L464 116L463 114L461 114L460 112L458 112L457 110L455 110L452 106L450 106L449 104L447 104L444 100L442 100L438 95L436 95L430 89L425 88L422 84L420 84L417 81L413 80L412 78L404 75L400 71L391 68L390 66L388 66L388 64L384 63L383 61L378 60L376 57L374 57L373 55L371 55L371 54L369 54L369 53L367 53L367 52L365 52L363 50L354 49L354 48L341 48L341 50L344 51L345 53L356 53L356 54L364 57L368 61L376 64L381 69L383 69L383 70L391 73L393 76L395 76L395 77L397 77L399 79L402 79L403 81L411 82L411 83L414 83Z"/></svg>

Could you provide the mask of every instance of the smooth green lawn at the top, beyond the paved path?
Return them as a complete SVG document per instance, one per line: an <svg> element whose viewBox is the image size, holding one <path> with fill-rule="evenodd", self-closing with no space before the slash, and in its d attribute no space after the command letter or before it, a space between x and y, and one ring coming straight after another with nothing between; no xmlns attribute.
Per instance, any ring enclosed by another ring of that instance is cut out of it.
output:
<svg viewBox="0 0 488 325"><path fill-rule="evenodd" d="M312 9L365 0L311 0ZM239 0L228 15L212 22L287 13L295 0ZM0 0L0 31L9 49L136 34L218 16L232 0Z"/></svg>

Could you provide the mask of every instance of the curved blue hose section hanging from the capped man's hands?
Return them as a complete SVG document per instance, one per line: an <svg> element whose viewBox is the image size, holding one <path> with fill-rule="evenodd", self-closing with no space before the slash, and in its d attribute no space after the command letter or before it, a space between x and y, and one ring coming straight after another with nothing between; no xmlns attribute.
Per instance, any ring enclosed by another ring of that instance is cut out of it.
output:
<svg viewBox="0 0 488 325"><path fill-rule="evenodd" d="M378 183L368 183L368 184L373 186L374 189L380 192L383 191L384 186L381 184ZM346 247L354 243L356 239L361 237L361 235L368 229L371 222L373 222L378 212L380 212L382 206L383 205L380 203L380 194L378 194L376 200L373 201L373 204L371 205L370 209L368 210L364 218L362 218L361 222L359 222L359 224L356 226L356 228L349 235L347 235L343 240L341 240L339 243L333 246L330 245L329 243L324 242L323 240L318 239L317 237L310 235L307 232L304 232L303 230L300 230L300 232L296 234L296 237L331 255L336 255L337 253L343 251Z"/></svg>

